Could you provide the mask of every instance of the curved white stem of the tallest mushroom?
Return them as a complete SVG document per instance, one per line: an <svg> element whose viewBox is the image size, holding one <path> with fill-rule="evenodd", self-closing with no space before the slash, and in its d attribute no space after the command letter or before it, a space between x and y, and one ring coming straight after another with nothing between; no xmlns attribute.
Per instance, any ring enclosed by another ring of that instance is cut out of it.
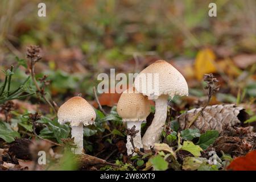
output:
<svg viewBox="0 0 256 182"><path fill-rule="evenodd" d="M154 143L159 143L163 125L167 117L168 96L162 95L155 100L155 115L151 125L142 138L143 147L145 150L150 150L150 146Z"/></svg>

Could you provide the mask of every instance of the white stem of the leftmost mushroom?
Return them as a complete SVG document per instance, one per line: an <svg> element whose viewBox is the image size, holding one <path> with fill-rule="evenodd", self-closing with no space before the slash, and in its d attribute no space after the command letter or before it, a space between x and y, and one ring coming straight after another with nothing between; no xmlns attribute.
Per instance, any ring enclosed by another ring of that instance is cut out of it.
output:
<svg viewBox="0 0 256 182"><path fill-rule="evenodd" d="M83 154L84 150L84 130L83 130L82 123L80 123L78 126L72 126L71 129L71 135L72 138L74 138L74 143L76 144L76 148L72 148L73 152L75 154Z"/></svg>

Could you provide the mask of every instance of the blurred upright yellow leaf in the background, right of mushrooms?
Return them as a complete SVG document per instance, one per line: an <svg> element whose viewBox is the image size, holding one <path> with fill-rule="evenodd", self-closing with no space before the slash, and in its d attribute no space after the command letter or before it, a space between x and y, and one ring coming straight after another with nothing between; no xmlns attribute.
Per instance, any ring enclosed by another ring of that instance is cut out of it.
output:
<svg viewBox="0 0 256 182"><path fill-rule="evenodd" d="M214 73L217 71L214 65L215 59L216 56L209 48L202 49L197 53L195 60L195 76L197 80L202 80L206 73Z"/></svg>

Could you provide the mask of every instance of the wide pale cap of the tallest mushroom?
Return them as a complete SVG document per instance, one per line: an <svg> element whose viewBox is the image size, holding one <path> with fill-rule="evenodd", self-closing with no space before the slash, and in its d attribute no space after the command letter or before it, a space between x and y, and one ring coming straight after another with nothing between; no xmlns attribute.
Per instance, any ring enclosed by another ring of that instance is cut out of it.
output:
<svg viewBox="0 0 256 182"><path fill-rule="evenodd" d="M153 76L147 73L153 73ZM158 77L154 78L154 76ZM152 82L150 82L151 78ZM149 83L148 85L147 82ZM152 85L154 85L154 87L151 87ZM188 84L185 78L177 69L164 60L155 61L155 63L143 69L135 78L134 86L138 92L153 98L157 98L163 94L171 97L175 95L188 95ZM147 87L153 88L154 93Z"/></svg>

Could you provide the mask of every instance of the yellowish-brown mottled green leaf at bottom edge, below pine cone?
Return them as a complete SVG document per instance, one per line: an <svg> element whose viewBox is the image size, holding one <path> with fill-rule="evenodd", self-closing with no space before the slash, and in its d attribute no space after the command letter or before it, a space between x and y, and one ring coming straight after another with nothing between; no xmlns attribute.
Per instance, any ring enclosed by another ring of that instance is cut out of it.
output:
<svg viewBox="0 0 256 182"><path fill-rule="evenodd" d="M184 170L195 171L201 166L201 164L206 164L206 163L207 163L206 158L187 157L183 160L182 168Z"/></svg>

